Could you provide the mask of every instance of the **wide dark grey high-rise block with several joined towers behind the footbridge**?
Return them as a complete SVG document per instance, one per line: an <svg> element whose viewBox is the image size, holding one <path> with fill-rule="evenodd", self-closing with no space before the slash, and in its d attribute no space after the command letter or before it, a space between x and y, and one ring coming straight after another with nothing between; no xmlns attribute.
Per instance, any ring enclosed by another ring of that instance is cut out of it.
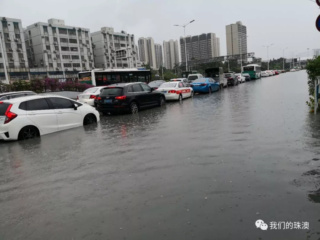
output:
<svg viewBox="0 0 320 240"><path fill-rule="evenodd" d="M215 33L203 33L197 36L180 37L181 61L186 61L185 45L187 60L214 58L220 56L220 38Z"/></svg>

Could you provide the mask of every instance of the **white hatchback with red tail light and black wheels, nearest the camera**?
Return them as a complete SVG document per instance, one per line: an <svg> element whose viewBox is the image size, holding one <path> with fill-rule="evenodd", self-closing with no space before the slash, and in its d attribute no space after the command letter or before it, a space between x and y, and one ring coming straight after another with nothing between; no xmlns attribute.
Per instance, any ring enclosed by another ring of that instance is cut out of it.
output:
<svg viewBox="0 0 320 240"><path fill-rule="evenodd" d="M0 139L24 140L100 121L99 112L57 95L0 101Z"/></svg>

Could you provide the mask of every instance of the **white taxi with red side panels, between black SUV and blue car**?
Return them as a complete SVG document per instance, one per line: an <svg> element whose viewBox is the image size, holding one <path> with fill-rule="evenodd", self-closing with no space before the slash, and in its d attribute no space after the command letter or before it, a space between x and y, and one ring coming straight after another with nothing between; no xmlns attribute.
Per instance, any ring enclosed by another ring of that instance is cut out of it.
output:
<svg viewBox="0 0 320 240"><path fill-rule="evenodd" d="M164 93L165 100L179 100L183 98L193 97L193 89L185 82L167 82L159 86L157 91Z"/></svg>

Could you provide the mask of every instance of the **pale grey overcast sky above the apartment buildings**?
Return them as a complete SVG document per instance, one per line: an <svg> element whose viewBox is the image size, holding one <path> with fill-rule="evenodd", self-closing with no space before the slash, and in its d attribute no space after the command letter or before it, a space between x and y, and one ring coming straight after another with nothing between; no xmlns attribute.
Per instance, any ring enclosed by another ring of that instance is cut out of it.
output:
<svg viewBox="0 0 320 240"><path fill-rule="evenodd" d="M101 27L113 27L116 32L125 30L139 37L153 37L155 43L178 39L186 35L215 33L220 37L221 55L226 55L225 26L242 21L247 26L248 52L267 59L282 57L280 48L288 49L285 57L307 56L313 48L320 48L320 32L315 22L320 11L309 0L0 0L0 16L18 18L26 27L35 22L47 22L50 18L65 20L66 25L90 28L91 32Z"/></svg>

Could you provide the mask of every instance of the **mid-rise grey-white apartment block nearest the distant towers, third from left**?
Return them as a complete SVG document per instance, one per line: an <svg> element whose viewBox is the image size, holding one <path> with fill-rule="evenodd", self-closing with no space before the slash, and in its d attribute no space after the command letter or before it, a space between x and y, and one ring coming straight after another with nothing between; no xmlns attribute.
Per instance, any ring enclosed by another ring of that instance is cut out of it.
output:
<svg viewBox="0 0 320 240"><path fill-rule="evenodd" d="M96 68L136 68L137 51L133 34L115 32L114 28L103 27L91 34L93 58ZM116 55L122 49L123 54ZM120 58L121 57L121 58Z"/></svg>

